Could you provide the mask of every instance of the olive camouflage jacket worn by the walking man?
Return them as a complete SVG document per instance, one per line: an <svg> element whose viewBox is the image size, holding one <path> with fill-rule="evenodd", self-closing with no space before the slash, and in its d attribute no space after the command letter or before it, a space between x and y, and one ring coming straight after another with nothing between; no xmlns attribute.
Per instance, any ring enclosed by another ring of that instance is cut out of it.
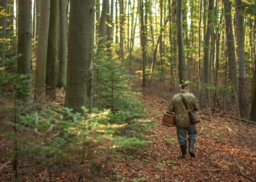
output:
<svg viewBox="0 0 256 182"><path fill-rule="evenodd" d="M189 107L189 111L198 111L199 110L199 102L195 98L195 95L189 93L187 90L181 90L184 101L187 103ZM186 109L185 104L182 101L182 97L180 93L175 94L171 99L171 103L168 106L168 110L170 112L175 112L175 125L176 127L190 127L189 114Z"/></svg>

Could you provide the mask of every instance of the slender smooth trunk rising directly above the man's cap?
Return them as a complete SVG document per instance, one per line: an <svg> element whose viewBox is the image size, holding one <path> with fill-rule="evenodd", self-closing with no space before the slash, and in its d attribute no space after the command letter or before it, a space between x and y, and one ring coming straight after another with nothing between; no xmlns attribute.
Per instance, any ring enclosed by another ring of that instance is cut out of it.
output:
<svg viewBox="0 0 256 182"><path fill-rule="evenodd" d="M182 1L176 1L176 33L178 40L178 70L180 83L184 83L186 78L186 65L185 65L185 53L182 31Z"/></svg>

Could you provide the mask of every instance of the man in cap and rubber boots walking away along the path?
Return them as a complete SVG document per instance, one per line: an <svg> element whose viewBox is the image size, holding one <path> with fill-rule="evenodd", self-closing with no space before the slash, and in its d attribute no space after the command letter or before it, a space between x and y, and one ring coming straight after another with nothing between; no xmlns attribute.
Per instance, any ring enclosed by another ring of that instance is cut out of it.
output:
<svg viewBox="0 0 256 182"><path fill-rule="evenodd" d="M197 129L194 124L190 124L189 114L184 102L186 102L189 111L198 111L199 102L195 98L194 94L189 93L189 89L190 87L188 83L182 83L180 85L180 92L173 96L171 104L168 107L170 112L175 112L175 126L182 151L181 158L187 157L187 134L189 136L189 154L191 157L195 157L194 144ZM181 95L183 96L184 102Z"/></svg>

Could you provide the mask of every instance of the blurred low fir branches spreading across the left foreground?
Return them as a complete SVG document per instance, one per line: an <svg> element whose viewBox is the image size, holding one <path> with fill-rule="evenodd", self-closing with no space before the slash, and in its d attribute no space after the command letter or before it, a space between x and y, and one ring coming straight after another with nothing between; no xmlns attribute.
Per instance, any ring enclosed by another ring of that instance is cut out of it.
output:
<svg viewBox="0 0 256 182"><path fill-rule="evenodd" d="M19 115L19 122L7 124L15 127L17 133L9 132L5 136L18 141L18 150L7 156L16 155L23 162L35 161L29 167L44 166L50 171L66 168L83 173L115 148L144 144L136 138L114 136L123 125L110 124L107 110L82 117L71 109L52 106L41 112Z"/></svg>

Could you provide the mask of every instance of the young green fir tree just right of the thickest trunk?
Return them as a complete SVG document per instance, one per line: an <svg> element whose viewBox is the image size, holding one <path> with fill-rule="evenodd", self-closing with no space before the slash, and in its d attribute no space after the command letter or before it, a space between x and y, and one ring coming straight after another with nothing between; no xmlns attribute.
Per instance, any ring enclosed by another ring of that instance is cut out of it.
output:
<svg viewBox="0 0 256 182"><path fill-rule="evenodd" d="M119 134L139 136L150 122L133 120L145 116L144 104L138 99L140 93L133 87L135 77L126 74L128 62L112 57L109 49L99 50L94 63L95 112L110 109L111 123L126 124Z"/></svg>

